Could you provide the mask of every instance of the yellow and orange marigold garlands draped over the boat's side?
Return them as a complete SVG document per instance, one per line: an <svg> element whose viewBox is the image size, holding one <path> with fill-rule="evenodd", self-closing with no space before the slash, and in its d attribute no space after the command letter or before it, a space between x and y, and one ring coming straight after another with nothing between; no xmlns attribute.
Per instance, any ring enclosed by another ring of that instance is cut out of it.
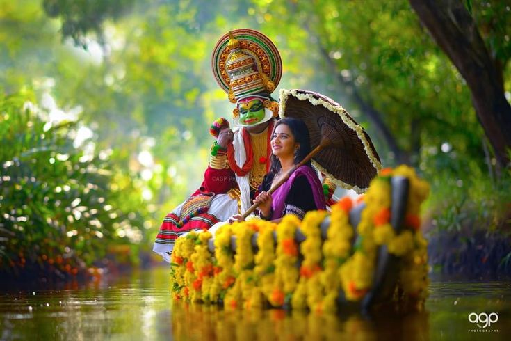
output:
<svg viewBox="0 0 511 341"><path fill-rule="evenodd" d="M393 176L407 177L410 184L405 228L399 234L390 225ZM291 300L296 309L334 312L339 289L351 301L359 301L371 290L378 246L387 245L389 253L401 260L398 289L404 296L398 299L406 297L421 308L428 286L428 243L419 231L419 208L428 191L428 184L412 168L382 170L364 197L366 207L353 247L354 229L349 223L353 204L348 198L332 207L323 245L319 224L327 213L321 211L309 212L301 223L289 215L278 225L259 219L224 225L216 232L214 257L207 244L211 234L190 232L177 239L171 256L173 296L206 303L223 299L226 308L260 308L265 299L279 307ZM295 241L299 226L307 237L300 246L300 270ZM259 251L254 255L256 231ZM232 235L236 235L236 254L231 250Z"/></svg>

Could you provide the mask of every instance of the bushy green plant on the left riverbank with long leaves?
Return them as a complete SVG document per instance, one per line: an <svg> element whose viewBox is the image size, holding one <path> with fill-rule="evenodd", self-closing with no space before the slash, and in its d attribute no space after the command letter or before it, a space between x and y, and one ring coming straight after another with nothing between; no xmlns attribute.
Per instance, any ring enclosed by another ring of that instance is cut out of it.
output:
<svg viewBox="0 0 511 341"><path fill-rule="evenodd" d="M136 246L147 216L130 200L136 189L104 152L73 145L79 122L52 124L30 97L0 98L0 271L49 262L71 272L113 244Z"/></svg>

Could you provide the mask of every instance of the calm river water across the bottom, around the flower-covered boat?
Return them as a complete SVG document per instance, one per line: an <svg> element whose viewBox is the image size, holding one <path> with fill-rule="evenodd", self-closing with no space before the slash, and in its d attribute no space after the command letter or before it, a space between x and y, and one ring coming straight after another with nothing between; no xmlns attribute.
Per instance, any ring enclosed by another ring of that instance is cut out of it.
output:
<svg viewBox="0 0 511 341"><path fill-rule="evenodd" d="M160 267L109 282L4 289L0 340L509 340L511 336L510 282L433 281L424 312L339 317L283 310L226 312L216 306L172 302L168 272ZM479 323L470 322L469 315ZM487 317L492 322L484 323Z"/></svg>

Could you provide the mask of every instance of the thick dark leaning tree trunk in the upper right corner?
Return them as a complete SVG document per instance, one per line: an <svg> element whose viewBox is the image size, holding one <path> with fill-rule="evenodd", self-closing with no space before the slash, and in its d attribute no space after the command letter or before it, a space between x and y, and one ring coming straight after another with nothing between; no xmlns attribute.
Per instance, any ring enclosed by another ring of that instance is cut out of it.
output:
<svg viewBox="0 0 511 341"><path fill-rule="evenodd" d="M459 0L409 0L409 3L467 81L473 106L497 161L508 166L511 106L504 96L502 70L496 68L471 15Z"/></svg>

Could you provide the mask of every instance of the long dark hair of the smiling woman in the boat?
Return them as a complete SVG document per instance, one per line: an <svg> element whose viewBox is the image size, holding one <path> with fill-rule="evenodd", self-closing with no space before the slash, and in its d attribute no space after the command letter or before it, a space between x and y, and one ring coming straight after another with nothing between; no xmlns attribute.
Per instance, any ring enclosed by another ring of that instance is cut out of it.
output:
<svg viewBox="0 0 511 341"><path fill-rule="evenodd" d="M307 129L307 125L305 125L304 122L301 120L297 120L296 118L282 118L275 123L275 127L273 128L272 137L273 134L275 134L275 130L279 125L287 125L289 127L289 130L291 130L291 134L293 134L293 137L295 138L295 141L300 143L300 147L295 152L295 164L298 164L300 161L302 161L308 154L311 152L311 143L309 140L309 129ZM270 156L271 161L271 168L270 172L273 174L279 173L280 168L282 166L280 165L279 158L275 155ZM307 166L311 166L311 161L307 162Z"/></svg>

